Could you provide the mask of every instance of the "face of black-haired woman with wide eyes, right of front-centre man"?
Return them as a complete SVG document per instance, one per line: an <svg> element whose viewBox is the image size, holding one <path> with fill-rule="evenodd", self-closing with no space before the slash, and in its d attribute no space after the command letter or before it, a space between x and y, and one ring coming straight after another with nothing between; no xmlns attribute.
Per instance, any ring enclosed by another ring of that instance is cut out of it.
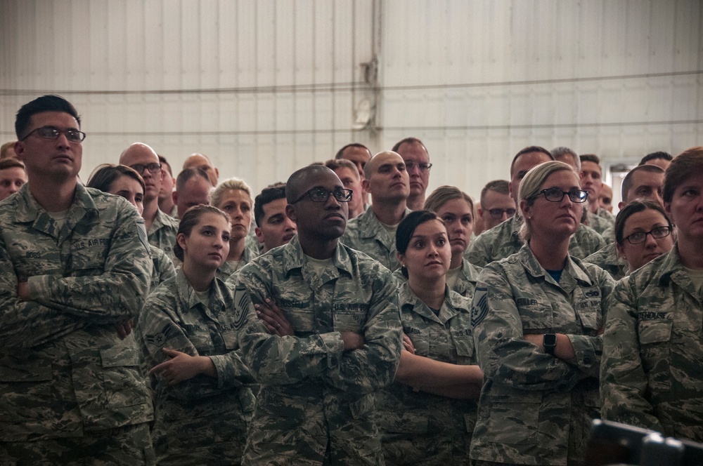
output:
<svg viewBox="0 0 703 466"><path fill-rule="evenodd" d="M451 248L446 227L439 220L430 220L415 228L405 254L399 254L408 277L437 279L449 270Z"/></svg>

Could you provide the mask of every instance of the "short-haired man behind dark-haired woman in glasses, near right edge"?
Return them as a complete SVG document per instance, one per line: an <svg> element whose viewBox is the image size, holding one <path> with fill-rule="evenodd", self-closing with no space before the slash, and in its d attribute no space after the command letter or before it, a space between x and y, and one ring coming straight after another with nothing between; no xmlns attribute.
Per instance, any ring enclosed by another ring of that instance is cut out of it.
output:
<svg viewBox="0 0 703 466"><path fill-rule="evenodd" d="M664 206L662 189L664 188L664 170L656 165L640 165L625 175L621 184L622 201L618 203L621 210L629 202L636 199L648 199ZM628 274L627 262L617 253L615 246L615 229L606 230L602 234L607 246L583 259L583 262L598 265L608 272L615 280Z"/></svg>

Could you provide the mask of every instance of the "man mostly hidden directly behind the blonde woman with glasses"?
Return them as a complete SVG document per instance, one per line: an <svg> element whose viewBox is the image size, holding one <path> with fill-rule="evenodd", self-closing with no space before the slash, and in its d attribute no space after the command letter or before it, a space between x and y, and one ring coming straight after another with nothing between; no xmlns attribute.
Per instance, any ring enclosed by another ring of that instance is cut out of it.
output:
<svg viewBox="0 0 703 466"><path fill-rule="evenodd" d="M520 182L524 175L531 168L546 161L554 160L553 155L544 147L529 146L520 150L512 158L510 164L510 197L516 201L517 192L520 189ZM494 260L507 258L509 255L517 253L522 248L520 239L520 226L522 218L520 215L513 215L489 230L486 230L474 240L467 248L464 257L473 265L485 267ZM600 234L590 227L580 224L579 229L569 240L569 255L583 259L605 246L605 241Z"/></svg>

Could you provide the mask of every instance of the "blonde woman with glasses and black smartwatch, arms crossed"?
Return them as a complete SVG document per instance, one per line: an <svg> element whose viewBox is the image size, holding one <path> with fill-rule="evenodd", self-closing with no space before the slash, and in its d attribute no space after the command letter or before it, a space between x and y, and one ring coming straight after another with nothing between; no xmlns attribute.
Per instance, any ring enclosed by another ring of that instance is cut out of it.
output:
<svg viewBox="0 0 703 466"><path fill-rule="evenodd" d="M549 161L520 183L520 251L491 262L472 302L484 385L477 465L579 465L600 417L598 369L614 281L569 255L588 194L571 166Z"/></svg>

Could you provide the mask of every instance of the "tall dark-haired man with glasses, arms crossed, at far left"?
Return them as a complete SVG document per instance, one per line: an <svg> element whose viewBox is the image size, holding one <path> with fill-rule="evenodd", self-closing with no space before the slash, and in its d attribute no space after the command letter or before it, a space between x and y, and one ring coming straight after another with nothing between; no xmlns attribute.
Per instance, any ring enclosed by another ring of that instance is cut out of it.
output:
<svg viewBox="0 0 703 466"><path fill-rule="evenodd" d="M20 108L27 183L0 204L0 463L148 464L153 419L131 319L149 291L144 222L78 182L80 118Z"/></svg>

